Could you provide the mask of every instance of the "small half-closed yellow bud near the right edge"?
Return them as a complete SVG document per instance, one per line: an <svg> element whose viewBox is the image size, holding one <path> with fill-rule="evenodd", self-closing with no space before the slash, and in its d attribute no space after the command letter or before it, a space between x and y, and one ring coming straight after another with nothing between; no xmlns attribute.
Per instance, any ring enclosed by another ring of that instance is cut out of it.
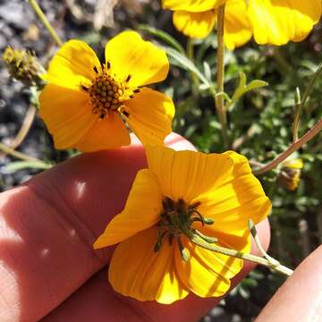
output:
<svg viewBox="0 0 322 322"><path fill-rule="evenodd" d="M282 164L282 169L277 176L277 182L279 182L287 190L295 191L298 188L301 180L302 168L303 161L301 158L284 161Z"/></svg>

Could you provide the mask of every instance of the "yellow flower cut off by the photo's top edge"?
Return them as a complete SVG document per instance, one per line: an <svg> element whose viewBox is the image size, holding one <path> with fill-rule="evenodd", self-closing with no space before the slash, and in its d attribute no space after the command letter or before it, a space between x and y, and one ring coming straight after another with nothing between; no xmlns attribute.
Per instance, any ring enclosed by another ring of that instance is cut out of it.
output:
<svg viewBox="0 0 322 322"><path fill-rule="evenodd" d="M191 38L205 38L216 23L216 8L225 7L225 45L239 47L254 36L260 44L301 41L318 22L320 0L163 0L174 11L174 26Z"/></svg>

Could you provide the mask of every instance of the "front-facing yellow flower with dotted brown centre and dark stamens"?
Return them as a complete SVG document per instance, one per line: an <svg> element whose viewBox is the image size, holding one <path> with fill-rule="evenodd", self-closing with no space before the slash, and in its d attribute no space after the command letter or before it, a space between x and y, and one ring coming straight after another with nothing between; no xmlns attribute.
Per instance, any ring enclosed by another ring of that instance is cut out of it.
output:
<svg viewBox="0 0 322 322"><path fill-rule="evenodd" d="M165 52L134 31L106 44L106 62L80 40L52 59L40 95L40 115L55 148L95 151L130 144L128 124L143 143L162 144L171 131L174 104L145 85L165 80Z"/></svg>

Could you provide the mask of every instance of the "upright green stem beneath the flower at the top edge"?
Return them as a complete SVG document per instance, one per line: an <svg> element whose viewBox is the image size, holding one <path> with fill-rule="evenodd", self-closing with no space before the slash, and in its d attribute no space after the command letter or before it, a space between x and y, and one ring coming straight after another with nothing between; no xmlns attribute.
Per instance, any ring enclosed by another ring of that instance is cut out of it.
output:
<svg viewBox="0 0 322 322"><path fill-rule="evenodd" d="M216 85L216 113L218 114L221 130L225 142L225 148L229 148L229 140L227 135L227 117L225 110L224 81L225 81L225 43L224 43L224 22L225 22L225 4L219 6L217 10L217 85ZM218 95L219 94L219 95Z"/></svg>

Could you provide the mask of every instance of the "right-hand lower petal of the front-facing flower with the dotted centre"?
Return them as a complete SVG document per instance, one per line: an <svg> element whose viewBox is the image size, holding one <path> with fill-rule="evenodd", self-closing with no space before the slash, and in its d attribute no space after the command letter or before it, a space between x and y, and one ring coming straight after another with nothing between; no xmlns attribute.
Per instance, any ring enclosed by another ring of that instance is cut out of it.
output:
<svg viewBox="0 0 322 322"><path fill-rule="evenodd" d="M126 101L129 113L127 123L143 144L163 145L172 130L174 103L156 90L143 88L134 98Z"/></svg>

